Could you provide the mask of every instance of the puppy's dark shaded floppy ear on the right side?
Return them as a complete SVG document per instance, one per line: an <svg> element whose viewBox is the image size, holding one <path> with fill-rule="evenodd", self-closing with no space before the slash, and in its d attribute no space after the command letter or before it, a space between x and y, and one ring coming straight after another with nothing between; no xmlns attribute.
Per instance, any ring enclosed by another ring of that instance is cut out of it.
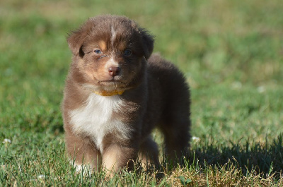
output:
<svg viewBox="0 0 283 187"><path fill-rule="evenodd" d="M149 59L154 51L154 36L150 35L147 30L141 30L142 35L142 48L144 49L144 57Z"/></svg>

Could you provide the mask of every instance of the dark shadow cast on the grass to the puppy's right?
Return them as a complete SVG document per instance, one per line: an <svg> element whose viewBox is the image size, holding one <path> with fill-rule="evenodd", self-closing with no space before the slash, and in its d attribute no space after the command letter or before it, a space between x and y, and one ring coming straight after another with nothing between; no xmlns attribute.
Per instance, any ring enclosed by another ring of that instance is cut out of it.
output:
<svg viewBox="0 0 283 187"><path fill-rule="evenodd" d="M283 134L273 139L271 143L250 143L246 145L233 144L231 147L224 145L215 146L215 143L206 143L202 147L192 147L190 152L190 164L223 167L232 163L242 173L256 172L263 178L274 174L279 176L283 169Z"/></svg>

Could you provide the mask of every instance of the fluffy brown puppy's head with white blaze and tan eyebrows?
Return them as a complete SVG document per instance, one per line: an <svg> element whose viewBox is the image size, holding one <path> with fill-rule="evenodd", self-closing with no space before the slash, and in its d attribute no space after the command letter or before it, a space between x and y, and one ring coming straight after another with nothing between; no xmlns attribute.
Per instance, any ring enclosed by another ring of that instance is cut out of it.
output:
<svg viewBox="0 0 283 187"><path fill-rule="evenodd" d="M77 80L98 92L137 86L154 49L153 37L123 16L90 18L67 41Z"/></svg>

